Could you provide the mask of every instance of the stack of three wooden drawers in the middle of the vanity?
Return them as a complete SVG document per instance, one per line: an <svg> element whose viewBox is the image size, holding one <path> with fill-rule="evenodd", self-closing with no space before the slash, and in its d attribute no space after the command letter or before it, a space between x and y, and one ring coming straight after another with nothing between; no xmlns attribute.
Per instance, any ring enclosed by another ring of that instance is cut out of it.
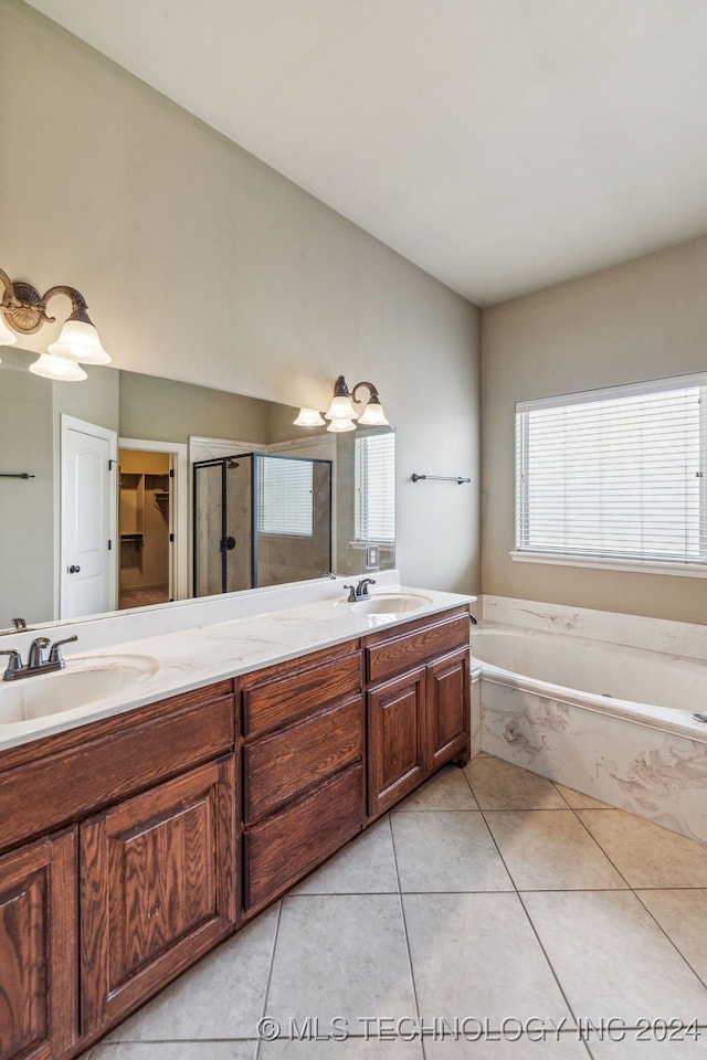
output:
<svg viewBox="0 0 707 1060"><path fill-rule="evenodd" d="M358 642L243 682L243 913L360 831L366 746Z"/></svg>

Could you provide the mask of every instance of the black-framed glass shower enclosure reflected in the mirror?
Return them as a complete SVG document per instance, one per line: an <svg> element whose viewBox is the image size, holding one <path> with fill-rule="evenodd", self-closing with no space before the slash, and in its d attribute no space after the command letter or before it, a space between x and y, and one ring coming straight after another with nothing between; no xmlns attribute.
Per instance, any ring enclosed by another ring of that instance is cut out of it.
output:
<svg viewBox="0 0 707 1060"><path fill-rule="evenodd" d="M193 594L331 568L331 460L240 453L193 465Z"/></svg>

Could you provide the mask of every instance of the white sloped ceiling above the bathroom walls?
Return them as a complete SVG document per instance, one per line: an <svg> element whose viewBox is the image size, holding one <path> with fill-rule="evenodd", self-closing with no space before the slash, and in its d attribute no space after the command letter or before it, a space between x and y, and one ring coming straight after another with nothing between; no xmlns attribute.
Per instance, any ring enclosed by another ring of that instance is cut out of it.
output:
<svg viewBox="0 0 707 1060"><path fill-rule="evenodd" d="M707 233L706 0L30 0L477 305Z"/></svg>

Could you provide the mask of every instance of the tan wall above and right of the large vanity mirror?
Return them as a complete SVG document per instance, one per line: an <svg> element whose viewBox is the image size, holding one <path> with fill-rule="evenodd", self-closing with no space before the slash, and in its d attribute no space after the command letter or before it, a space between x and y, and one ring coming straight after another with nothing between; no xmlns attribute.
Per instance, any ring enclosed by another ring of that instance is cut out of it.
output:
<svg viewBox="0 0 707 1060"><path fill-rule="evenodd" d="M402 575L477 590L478 310L20 0L0 23L6 272L78 287L128 371L315 407L372 380Z"/></svg>

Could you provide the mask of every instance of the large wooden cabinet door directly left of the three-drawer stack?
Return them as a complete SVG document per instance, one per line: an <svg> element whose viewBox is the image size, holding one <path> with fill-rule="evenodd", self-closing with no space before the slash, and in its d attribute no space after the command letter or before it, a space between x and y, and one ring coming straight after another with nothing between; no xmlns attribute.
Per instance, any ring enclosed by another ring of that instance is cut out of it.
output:
<svg viewBox="0 0 707 1060"><path fill-rule="evenodd" d="M114 1024L235 920L233 756L81 827L82 1014Z"/></svg>

